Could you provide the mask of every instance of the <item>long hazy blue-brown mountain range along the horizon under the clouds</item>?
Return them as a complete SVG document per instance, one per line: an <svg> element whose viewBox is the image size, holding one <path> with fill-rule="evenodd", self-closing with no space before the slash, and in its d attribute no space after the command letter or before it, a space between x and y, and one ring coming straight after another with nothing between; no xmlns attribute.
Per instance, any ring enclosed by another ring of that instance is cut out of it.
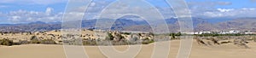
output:
<svg viewBox="0 0 256 58"><path fill-rule="evenodd" d="M193 26L196 32L199 31L253 31L256 32L256 18L237 18L232 20L209 22L202 18L192 18ZM106 21L110 19L105 19ZM166 23L170 32L178 32L179 24L177 19L166 19ZM82 20L82 27L89 28L96 26L96 20ZM104 25L103 25L104 26ZM31 22L27 24L0 24L0 32L35 32L35 31L50 31L61 29L61 22L49 22L42 21ZM119 31L140 31L140 32L152 32L152 28L145 20L127 20L118 19L114 21L112 30Z"/></svg>

